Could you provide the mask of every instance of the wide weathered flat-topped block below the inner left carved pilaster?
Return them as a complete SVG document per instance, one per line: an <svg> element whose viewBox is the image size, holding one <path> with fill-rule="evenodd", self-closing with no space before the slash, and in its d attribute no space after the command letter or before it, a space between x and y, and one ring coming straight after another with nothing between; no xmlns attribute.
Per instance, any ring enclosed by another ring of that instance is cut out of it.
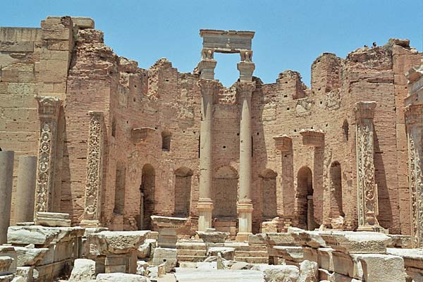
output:
<svg viewBox="0 0 423 282"><path fill-rule="evenodd" d="M94 255L125 254L139 247L149 231L102 231L90 238L90 252Z"/></svg>

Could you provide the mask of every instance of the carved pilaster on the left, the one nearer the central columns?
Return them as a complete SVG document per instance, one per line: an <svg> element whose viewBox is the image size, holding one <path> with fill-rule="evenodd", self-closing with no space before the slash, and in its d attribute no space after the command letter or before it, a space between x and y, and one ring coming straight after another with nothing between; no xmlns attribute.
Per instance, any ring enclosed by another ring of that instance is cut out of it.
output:
<svg viewBox="0 0 423 282"><path fill-rule="evenodd" d="M88 129L87 177L85 179L85 209L80 226L99 227L102 207L104 115L90 111Z"/></svg>

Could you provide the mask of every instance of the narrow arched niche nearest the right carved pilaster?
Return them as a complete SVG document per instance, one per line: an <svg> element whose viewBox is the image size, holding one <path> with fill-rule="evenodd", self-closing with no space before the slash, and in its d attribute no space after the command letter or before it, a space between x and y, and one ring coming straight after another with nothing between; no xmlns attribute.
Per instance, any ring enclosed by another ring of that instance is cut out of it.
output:
<svg viewBox="0 0 423 282"><path fill-rule="evenodd" d="M333 161L330 168L331 174L331 218L344 216L342 207L342 179L341 164Z"/></svg>

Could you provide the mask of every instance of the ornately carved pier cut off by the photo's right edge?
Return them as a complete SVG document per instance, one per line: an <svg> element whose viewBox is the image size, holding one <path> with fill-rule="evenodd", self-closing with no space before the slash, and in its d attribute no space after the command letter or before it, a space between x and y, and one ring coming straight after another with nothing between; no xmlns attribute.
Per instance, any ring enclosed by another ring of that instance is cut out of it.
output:
<svg viewBox="0 0 423 282"><path fill-rule="evenodd" d="M412 247L423 247L423 66L407 73L405 98Z"/></svg>

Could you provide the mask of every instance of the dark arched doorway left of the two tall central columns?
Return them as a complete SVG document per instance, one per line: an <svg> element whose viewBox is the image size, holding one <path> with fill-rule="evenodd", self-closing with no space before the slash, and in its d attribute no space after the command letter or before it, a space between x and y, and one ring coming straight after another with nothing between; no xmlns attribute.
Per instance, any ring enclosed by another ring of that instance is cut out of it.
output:
<svg viewBox="0 0 423 282"><path fill-rule="evenodd" d="M156 182L156 171L151 164L142 167L140 186L140 220L138 229L146 230L152 228L152 216L154 212L154 186Z"/></svg>

